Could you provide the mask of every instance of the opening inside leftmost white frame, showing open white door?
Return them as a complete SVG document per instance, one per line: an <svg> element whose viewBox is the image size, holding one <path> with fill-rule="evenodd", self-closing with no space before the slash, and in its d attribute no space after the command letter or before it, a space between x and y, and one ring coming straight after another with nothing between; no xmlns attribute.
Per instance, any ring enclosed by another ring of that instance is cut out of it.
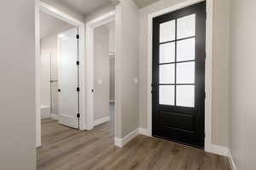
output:
<svg viewBox="0 0 256 170"><path fill-rule="evenodd" d="M41 118L79 129L78 28L40 12Z"/></svg>

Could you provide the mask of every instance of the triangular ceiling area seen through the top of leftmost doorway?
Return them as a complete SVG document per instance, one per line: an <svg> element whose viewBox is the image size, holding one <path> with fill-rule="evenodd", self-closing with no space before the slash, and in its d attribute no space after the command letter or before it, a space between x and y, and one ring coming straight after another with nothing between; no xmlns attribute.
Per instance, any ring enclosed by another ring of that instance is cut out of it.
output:
<svg viewBox="0 0 256 170"><path fill-rule="evenodd" d="M47 37L54 33L59 33L73 26L69 25L67 22L56 19L49 14L40 12L40 38Z"/></svg>

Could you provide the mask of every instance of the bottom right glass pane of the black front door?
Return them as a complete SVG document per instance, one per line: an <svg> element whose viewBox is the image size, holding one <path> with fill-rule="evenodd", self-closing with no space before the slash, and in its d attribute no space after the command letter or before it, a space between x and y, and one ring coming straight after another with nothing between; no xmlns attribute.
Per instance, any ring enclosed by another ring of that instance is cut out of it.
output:
<svg viewBox="0 0 256 170"><path fill-rule="evenodd" d="M195 85L177 86L177 106L195 107Z"/></svg>

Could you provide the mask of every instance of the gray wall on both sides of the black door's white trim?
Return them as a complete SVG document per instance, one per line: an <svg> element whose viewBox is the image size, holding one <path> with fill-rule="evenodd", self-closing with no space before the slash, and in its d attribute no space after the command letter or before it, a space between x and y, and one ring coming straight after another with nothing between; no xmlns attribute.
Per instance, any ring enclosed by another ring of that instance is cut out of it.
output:
<svg viewBox="0 0 256 170"><path fill-rule="evenodd" d="M161 0L140 9L140 127L148 127L148 14L184 0ZM230 0L214 0L212 60L212 143L229 145L229 23Z"/></svg>

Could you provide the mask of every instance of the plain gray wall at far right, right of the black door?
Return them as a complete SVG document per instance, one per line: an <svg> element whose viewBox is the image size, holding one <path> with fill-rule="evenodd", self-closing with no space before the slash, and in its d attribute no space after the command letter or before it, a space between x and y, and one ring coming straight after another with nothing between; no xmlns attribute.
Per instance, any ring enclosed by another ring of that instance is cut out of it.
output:
<svg viewBox="0 0 256 170"><path fill-rule="evenodd" d="M230 150L239 170L256 160L256 1L232 0L230 25Z"/></svg>

